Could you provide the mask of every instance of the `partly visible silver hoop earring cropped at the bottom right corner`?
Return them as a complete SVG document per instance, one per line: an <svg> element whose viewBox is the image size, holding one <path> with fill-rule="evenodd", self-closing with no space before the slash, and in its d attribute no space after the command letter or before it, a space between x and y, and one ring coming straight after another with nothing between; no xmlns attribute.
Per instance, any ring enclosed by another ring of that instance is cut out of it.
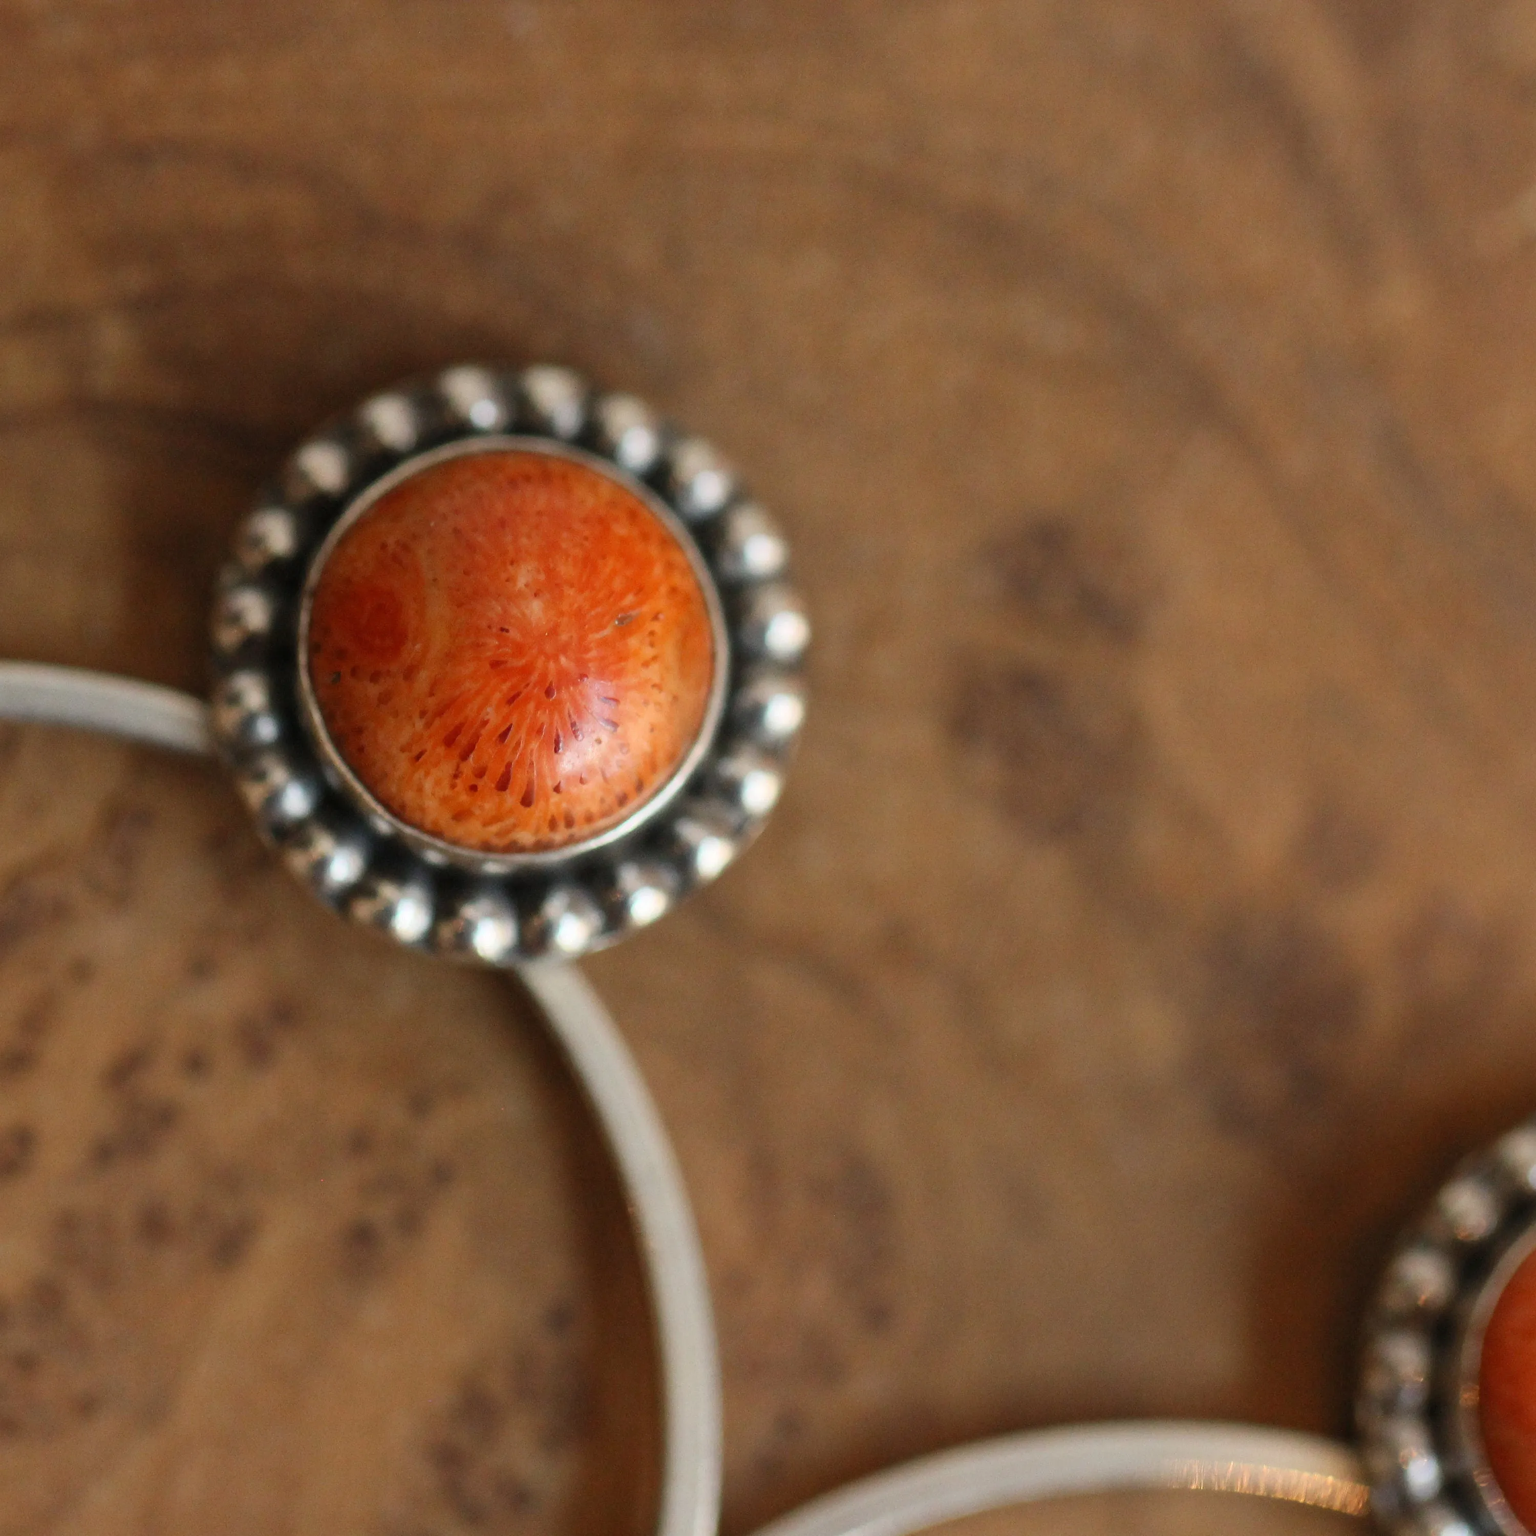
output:
<svg viewBox="0 0 1536 1536"><path fill-rule="evenodd" d="M1467 1158L1405 1227L1366 1316L1359 1452L1247 1425L1040 1430L880 1473L759 1536L911 1536L1115 1490L1246 1493L1373 1516L1395 1536L1536 1522L1536 1120Z"/></svg>

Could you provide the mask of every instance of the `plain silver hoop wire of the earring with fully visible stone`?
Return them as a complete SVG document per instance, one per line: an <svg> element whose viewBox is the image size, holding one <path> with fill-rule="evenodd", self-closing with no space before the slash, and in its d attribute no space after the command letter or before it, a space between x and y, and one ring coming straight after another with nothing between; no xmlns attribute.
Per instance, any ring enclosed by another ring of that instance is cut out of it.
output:
<svg viewBox="0 0 1536 1536"><path fill-rule="evenodd" d="M207 756L201 700L71 667L0 662L0 719L100 731ZM703 1252L677 1160L645 1081L598 994L574 966L519 978L587 1095L624 1184L656 1318L662 1379L657 1536L714 1536L720 1516L720 1373Z"/></svg>

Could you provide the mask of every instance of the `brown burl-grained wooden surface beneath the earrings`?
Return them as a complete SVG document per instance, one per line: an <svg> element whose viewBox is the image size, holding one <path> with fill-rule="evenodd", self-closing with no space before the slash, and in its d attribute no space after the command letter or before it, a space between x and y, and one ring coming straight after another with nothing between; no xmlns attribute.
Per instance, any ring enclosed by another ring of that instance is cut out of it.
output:
<svg viewBox="0 0 1536 1536"><path fill-rule="evenodd" d="M654 396L819 625L782 814L591 968L728 1531L1066 1418L1341 1430L1395 1223L1536 1104L1533 283L1533 0L0 0L0 654L200 687L249 488L398 375ZM0 1533L644 1531L536 1026L212 773L0 746Z"/></svg>

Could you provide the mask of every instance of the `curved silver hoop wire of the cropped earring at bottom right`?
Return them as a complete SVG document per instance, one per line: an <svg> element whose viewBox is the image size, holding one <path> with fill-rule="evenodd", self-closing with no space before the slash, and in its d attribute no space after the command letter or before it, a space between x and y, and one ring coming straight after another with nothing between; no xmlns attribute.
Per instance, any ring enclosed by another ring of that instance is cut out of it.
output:
<svg viewBox="0 0 1536 1536"><path fill-rule="evenodd" d="M763 1525L757 1536L912 1536L1038 1499L1209 1488L1364 1514L1355 1456L1310 1435L1236 1424L1094 1424L925 1456Z"/></svg>

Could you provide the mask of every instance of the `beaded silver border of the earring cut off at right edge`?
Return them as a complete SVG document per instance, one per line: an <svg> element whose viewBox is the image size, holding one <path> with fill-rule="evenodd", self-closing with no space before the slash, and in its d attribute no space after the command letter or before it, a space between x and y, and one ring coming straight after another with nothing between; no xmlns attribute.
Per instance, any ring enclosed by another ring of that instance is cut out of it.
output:
<svg viewBox="0 0 1536 1536"><path fill-rule="evenodd" d="M1366 1319L1355 1416L1372 1510L1402 1536L1531 1536L1478 1427L1482 1332L1536 1246L1536 1118L1467 1158L1399 1236Z"/></svg>

